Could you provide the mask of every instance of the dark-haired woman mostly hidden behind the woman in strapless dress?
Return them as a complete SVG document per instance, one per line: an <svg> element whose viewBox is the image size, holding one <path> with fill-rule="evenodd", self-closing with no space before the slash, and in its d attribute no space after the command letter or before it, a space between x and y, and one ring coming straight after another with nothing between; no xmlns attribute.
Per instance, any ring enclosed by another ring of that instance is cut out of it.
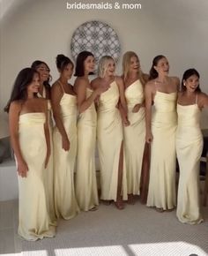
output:
<svg viewBox="0 0 208 256"><path fill-rule="evenodd" d="M38 97L47 99L48 101L48 129L50 136L50 157L48 161L48 166L45 175L45 190L47 196L47 207L48 214L50 215L51 222L56 224L56 212L55 212L55 204L54 204L54 167L53 167L53 139L52 139L52 131L53 131L53 121L52 121L52 109L50 102L50 70L48 64L41 60L36 60L33 62L31 67L39 72L40 74L40 87L38 90Z"/></svg>

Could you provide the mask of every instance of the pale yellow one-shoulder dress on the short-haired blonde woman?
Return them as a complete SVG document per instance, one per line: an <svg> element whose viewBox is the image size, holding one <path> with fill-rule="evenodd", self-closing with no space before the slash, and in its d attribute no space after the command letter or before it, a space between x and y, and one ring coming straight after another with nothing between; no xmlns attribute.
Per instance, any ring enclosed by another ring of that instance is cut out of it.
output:
<svg viewBox="0 0 208 256"><path fill-rule="evenodd" d="M119 89L112 82L108 91L100 94L98 107L98 152L100 159L101 200L117 200L118 166L123 143L123 122L117 103ZM125 155L123 153L123 200L127 200Z"/></svg>

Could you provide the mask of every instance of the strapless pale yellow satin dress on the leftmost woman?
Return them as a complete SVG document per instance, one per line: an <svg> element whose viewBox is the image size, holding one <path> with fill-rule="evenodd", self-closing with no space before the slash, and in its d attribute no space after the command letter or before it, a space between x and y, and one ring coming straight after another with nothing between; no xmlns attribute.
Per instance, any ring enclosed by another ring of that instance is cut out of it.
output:
<svg viewBox="0 0 208 256"><path fill-rule="evenodd" d="M44 186L45 121L44 113L19 116L19 146L28 166L26 177L19 176L19 235L31 241L56 233L48 215Z"/></svg>

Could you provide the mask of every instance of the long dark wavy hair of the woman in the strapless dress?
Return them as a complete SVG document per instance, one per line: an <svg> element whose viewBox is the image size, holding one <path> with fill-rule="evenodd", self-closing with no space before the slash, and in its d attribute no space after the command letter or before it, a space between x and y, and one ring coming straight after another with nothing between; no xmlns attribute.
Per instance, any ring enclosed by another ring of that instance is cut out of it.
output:
<svg viewBox="0 0 208 256"><path fill-rule="evenodd" d="M40 76L39 72L35 71L32 68L25 68L19 72L11 90L10 100L7 102L4 108L5 112L9 112L11 102L26 100L26 88L33 82L34 74L38 74L38 76Z"/></svg>

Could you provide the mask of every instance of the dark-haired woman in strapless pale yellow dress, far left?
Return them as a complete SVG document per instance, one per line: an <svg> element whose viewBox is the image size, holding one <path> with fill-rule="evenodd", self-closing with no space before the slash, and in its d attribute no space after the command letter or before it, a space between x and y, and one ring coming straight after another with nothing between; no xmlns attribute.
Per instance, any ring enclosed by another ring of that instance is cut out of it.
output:
<svg viewBox="0 0 208 256"><path fill-rule="evenodd" d="M43 180L50 143L47 101L36 96L39 81L33 69L20 71L5 108L19 174L19 235L32 241L55 236Z"/></svg>

